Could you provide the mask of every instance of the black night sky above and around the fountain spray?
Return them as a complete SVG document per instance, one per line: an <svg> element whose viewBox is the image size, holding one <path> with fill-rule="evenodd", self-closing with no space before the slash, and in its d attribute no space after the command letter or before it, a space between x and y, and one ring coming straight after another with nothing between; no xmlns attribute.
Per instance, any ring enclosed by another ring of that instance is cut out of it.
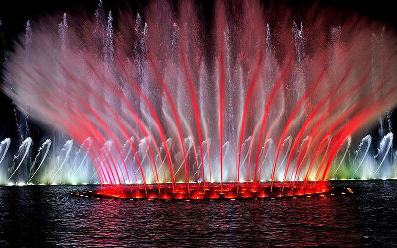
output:
<svg viewBox="0 0 397 248"><path fill-rule="evenodd" d="M0 28L1 41L0 53L1 62L4 59L4 52L12 50L13 40L18 34L24 32L25 23L27 20L35 20L40 16L59 14L60 20L63 12L78 13L79 11L87 11L94 14L98 0L52 0L52 1L20 1L20 0L4 0L0 3L0 20L2 27ZM176 1L173 1L176 2ZM214 2L211 0L197 1L202 6L203 15L211 17L211 9ZM275 1L275 4L285 4L290 6L297 13L304 13L305 9L312 6L315 1L298 1L289 0ZM119 8L123 9L126 5L131 6L134 11L142 12L142 8L148 3L145 0L126 1L126 0L103 0L103 6L106 12L111 10L117 13ZM270 1L264 1L265 5L270 4ZM370 20L380 20L388 27L396 30L397 15L392 1L378 0L378 1L362 1L362 0L321 0L319 5L331 7L346 13L357 13L360 16L366 16ZM117 18L116 18L117 20ZM2 67L2 63L1 63ZM2 78L2 68L1 68ZM2 79L1 79L2 84ZM396 111L394 111L396 112ZM393 127L396 133L397 114L393 114ZM48 131L42 127L31 124L31 132L33 136L40 137L48 135ZM376 129L374 130L374 134ZM16 138L16 125L13 106L11 100L7 98L2 91L0 91L0 140L11 137ZM41 137L43 139L45 137ZM37 142L36 142L37 143ZM395 139L396 143L396 139ZM15 142L14 142L14 145Z"/></svg>

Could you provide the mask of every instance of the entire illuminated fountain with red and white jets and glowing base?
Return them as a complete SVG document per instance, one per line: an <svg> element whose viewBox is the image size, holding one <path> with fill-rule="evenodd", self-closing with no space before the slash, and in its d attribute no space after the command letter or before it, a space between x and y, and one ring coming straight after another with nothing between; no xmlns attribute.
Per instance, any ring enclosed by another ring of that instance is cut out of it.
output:
<svg viewBox="0 0 397 248"><path fill-rule="evenodd" d="M315 8L297 20L217 1L204 18L177 5L26 23L5 62L20 140L2 137L1 184L235 199L397 176L391 30ZM28 122L53 130L35 151Z"/></svg>

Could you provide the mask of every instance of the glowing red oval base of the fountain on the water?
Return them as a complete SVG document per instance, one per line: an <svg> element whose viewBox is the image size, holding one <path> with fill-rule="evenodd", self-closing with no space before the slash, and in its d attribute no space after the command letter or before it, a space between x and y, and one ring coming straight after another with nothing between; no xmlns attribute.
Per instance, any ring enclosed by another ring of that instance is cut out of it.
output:
<svg viewBox="0 0 397 248"><path fill-rule="evenodd" d="M171 183L147 185L124 185L122 188L110 186L94 192L97 196L113 198L142 198L142 199L235 199L235 198L268 198L283 196L304 196L330 192L329 186L323 182L308 182L302 186L301 182L286 183L282 191L282 182L274 182L271 190L271 182L244 182L239 183L177 183L172 188Z"/></svg>

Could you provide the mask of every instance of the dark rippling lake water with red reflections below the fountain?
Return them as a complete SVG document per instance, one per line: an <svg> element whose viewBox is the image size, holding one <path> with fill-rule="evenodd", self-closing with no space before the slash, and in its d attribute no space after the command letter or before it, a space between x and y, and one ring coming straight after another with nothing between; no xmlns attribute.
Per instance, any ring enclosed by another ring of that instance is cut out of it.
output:
<svg viewBox="0 0 397 248"><path fill-rule="evenodd" d="M0 186L0 247L392 247L397 180L353 194L235 201L94 200L95 186Z"/></svg>

